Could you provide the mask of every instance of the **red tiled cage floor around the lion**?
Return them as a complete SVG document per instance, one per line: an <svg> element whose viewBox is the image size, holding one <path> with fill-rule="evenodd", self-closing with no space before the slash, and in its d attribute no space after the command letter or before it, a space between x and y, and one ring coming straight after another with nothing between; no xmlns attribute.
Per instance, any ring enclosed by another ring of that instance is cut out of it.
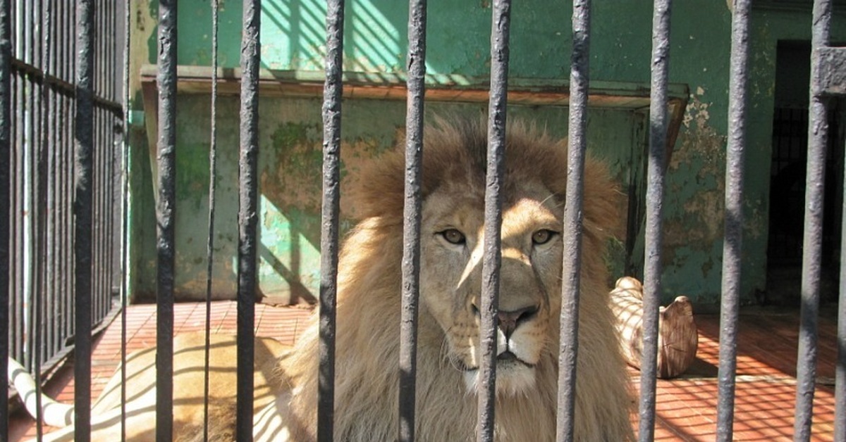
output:
<svg viewBox="0 0 846 442"><path fill-rule="evenodd" d="M205 304L177 304L175 332L202 330ZM825 312L826 309L823 309ZM255 330L292 343L302 330L310 310L256 305ZM236 304L212 305L211 327L215 333L231 333L236 327ZM738 340L738 381L734 416L735 440L791 440L793 434L797 312L762 309L741 314ZM661 380L656 390L656 440L713 440L717 423L717 360L719 317L698 314L700 341L697 360L681 379ZM92 356L92 396L96 397L120 359L120 317L95 342ZM837 358L837 322L833 314L820 319L818 383L814 399L813 440L832 440L834 422L834 363ZM151 347L156 341L156 308L135 305L127 312L129 351ZM633 385L639 373L631 369ZM72 368L63 368L48 390L63 401L73 400ZM636 425L637 417L633 417ZM31 420L14 416L9 440L29 439L35 434ZM49 429L49 428L47 428Z"/></svg>

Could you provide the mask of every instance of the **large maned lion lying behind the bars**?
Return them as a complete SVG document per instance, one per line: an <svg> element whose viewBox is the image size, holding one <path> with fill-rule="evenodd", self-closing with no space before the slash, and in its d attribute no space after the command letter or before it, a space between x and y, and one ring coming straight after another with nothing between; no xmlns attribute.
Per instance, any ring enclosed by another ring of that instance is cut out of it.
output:
<svg viewBox="0 0 846 442"><path fill-rule="evenodd" d="M566 142L520 122L510 123L507 134L494 432L498 441L552 440L558 408ZM476 120L437 119L424 134L415 413L420 440L476 437L486 145L485 124ZM634 439L631 392L608 306L603 260L605 243L618 222L618 195L606 167L588 156L574 401L577 440ZM346 237L339 258L334 437L391 440L399 422L400 146L365 167L352 199L361 221ZM313 319L294 347L256 339L255 439L316 439L317 322ZM179 336L174 342L179 369L173 379L173 434L187 434L187 439L202 428L202 344L201 336ZM231 337L216 337L212 346L210 432L219 440L232 439L235 424L233 348ZM148 439L154 432L153 357L150 350L129 357L129 439ZM96 404L92 439L114 440L119 434L118 382L113 379L105 399ZM65 429L51 436L69 440L69 434Z"/></svg>

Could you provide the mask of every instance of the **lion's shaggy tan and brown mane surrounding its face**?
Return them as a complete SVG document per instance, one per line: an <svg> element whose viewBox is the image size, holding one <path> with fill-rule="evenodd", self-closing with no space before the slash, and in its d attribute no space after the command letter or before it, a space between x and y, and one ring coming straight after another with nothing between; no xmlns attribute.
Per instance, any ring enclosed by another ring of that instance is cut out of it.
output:
<svg viewBox="0 0 846 442"><path fill-rule="evenodd" d="M520 183L540 179L563 205L566 144L522 123L508 127L505 198ZM477 121L438 120L426 129L422 194L436 188L455 192L484 188L486 128ZM581 261L579 356L575 437L625 440L629 424L628 379L607 306L605 243L618 224L619 193L602 163L585 164L584 234ZM338 440L392 440L398 432L400 265L403 253L404 153L383 155L360 175L353 205L361 221L346 238L339 262L334 431ZM420 281L421 286L426 281ZM548 351L537 366L530 394L499 397L498 440L552 440L558 407L558 311ZM288 431L294 440L316 438L317 321L280 359L286 385ZM420 308L417 356L416 434L420 440L475 439L476 397L443 356L443 330Z"/></svg>

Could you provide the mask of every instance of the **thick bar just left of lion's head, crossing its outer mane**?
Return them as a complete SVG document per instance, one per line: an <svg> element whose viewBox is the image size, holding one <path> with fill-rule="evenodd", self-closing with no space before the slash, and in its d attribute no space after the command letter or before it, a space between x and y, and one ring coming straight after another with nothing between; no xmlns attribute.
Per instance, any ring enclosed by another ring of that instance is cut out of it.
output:
<svg viewBox="0 0 846 442"><path fill-rule="evenodd" d="M327 0L326 84L323 86L323 197L321 207L320 377L317 440L331 442L335 414L335 304L338 294L343 3Z"/></svg>

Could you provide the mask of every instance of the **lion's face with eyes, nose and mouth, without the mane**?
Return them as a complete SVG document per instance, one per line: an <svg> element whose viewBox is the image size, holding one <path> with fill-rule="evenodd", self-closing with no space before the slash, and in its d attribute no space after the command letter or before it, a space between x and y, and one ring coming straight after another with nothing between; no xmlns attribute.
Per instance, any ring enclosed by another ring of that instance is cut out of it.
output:
<svg viewBox="0 0 846 442"><path fill-rule="evenodd" d="M505 195L497 328L497 394L527 393L560 308L563 209L539 183ZM481 189L442 188L423 206L420 296L444 332L449 363L478 388L481 271L484 249ZM554 316L553 316L554 315ZM555 321L557 324L557 321Z"/></svg>

